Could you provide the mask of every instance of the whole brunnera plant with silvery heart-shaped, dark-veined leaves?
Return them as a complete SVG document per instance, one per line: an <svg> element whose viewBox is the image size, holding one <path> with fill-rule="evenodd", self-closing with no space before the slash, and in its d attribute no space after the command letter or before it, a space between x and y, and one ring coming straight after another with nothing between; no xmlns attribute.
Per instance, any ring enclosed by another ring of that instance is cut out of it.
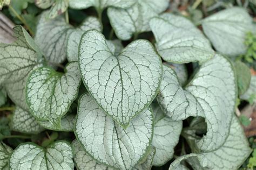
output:
<svg viewBox="0 0 256 170"><path fill-rule="evenodd" d="M254 27L246 10L217 12L201 20L201 31L164 12L167 0L36 5L47 10L35 37L18 25L16 40L0 44L0 86L16 104L11 130L64 131L75 138L26 142L14 150L1 141L1 169L151 169L173 159L181 132L191 153L170 169L188 169L184 161L194 169L237 169L250 155L234 114L238 81L232 61L245 53L245 34ZM91 6L98 18L87 16L76 27L60 15ZM104 9L116 40L103 34ZM154 41L137 39L149 31ZM199 63L190 79L189 62ZM247 88L239 95L250 93ZM198 131L205 131L203 137Z"/></svg>

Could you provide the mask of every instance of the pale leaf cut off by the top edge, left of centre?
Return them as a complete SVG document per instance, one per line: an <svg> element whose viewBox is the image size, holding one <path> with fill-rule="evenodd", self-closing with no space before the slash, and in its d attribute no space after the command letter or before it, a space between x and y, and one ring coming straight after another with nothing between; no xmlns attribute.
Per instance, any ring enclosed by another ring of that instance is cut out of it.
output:
<svg viewBox="0 0 256 170"><path fill-rule="evenodd" d="M136 0L69 0L69 6L73 9L86 9L94 6L97 11L103 11L108 6L127 8L135 2Z"/></svg>

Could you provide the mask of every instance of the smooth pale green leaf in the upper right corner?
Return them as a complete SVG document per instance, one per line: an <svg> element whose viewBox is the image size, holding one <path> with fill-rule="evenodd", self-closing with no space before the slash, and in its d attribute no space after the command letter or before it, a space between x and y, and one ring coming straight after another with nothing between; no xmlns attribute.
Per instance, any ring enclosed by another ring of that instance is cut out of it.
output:
<svg viewBox="0 0 256 170"><path fill-rule="evenodd" d="M202 22L214 48L228 56L246 52L246 33L253 30L252 18L244 8L229 8L207 17Z"/></svg>

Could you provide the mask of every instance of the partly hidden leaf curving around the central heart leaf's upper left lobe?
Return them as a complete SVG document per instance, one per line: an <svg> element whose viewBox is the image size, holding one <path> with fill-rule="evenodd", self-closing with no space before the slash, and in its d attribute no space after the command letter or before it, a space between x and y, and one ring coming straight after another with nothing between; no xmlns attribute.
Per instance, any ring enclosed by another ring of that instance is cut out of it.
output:
<svg viewBox="0 0 256 170"><path fill-rule="evenodd" d="M66 49L69 62L78 60L79 41L85 31L92 29L101 31L102 25L96 17L87 17L84 22L70 34Z"/></svg>

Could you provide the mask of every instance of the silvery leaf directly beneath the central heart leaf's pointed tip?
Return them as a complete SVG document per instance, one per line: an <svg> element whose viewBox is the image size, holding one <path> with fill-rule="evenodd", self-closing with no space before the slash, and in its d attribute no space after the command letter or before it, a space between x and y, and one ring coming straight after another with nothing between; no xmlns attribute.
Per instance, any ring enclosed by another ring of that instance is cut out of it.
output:
<svg viewBox="0 0 256 170"><path fill-rule="evenodd" d="M80 97L75 134L86 153L102 164L130 169L144 158L153 136L153 115L145 109L125 130L89 95Z"/></svg>

